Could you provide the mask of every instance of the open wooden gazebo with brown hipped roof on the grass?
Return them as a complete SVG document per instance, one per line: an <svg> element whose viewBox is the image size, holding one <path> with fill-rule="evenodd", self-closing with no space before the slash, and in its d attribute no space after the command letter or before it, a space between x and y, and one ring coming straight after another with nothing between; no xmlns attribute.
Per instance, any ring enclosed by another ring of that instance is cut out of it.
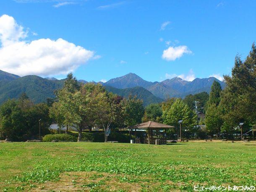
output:
<svg viewBox="0 0 256 192"><path fill-rule="evenodd" d="M171 125L165 125L153 121L144 122L138 125L129 127L129 130L134 130L136 136L136 130L145 130L146 137L144 143L147 144L166 144L165 133L167 129L174 128ZM136 139L135 143L141 143L139 139Z"/></svg>

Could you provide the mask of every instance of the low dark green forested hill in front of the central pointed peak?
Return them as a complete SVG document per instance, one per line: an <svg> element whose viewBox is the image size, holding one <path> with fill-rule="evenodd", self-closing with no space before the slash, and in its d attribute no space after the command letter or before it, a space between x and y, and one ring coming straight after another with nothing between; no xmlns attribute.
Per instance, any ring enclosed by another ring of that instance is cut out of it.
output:
<svg viewBox="0 0 256 192"><path fill-rule="evenodd" d="M159 97L154 96L152 93L150 93L148 90L146 90L143 87L118 89L118 88L114 88L114 87L110 87L110 86L105 86L105 89L108 92L115 93L115 94L123 96L125 98L128 98L128 96L130 94L132 96L136 95L138 99L143 100L144 106L147 106L152 103L160 103L163 101L163 99L160 99Z"/></svg>

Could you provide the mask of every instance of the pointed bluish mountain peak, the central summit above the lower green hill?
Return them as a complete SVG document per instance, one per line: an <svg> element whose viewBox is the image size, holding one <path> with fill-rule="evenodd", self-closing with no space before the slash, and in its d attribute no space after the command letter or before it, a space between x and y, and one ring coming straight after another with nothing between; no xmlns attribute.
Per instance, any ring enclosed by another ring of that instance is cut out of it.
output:
<svg viewBox="0 0 256 192"><path fill-rule="evenodd" d="M146 81L134 73L128 73L122 77L110 79L104 86L111 86L115 88L132 88L132 87L149 87L154 83Z"/></svg>

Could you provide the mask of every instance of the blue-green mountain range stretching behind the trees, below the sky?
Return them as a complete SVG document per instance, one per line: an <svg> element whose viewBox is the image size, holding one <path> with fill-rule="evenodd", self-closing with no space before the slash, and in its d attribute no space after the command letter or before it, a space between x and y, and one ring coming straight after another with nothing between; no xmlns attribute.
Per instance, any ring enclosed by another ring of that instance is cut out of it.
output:
<svg viewBox="0 0 256 192"><path fill-rule="evenodd" d="M128 73L122 77L113 78L106 83L101 83L107 91L128 97L136 95L144 101L144 106L150 103L159 103L168 97L185 97L202 91L209 93L213 81L218 81L222 88L225 83L214 77L196 78L193 81L185 81L175 77L162 82L150 82L142 79L134 73ZM26 93L35 103L44 102L47 98L54 98L54 91L63 86L65 79L42 78L37 75L19 77L0 70L0 103L7 99L18 98L21 93ZM87 83L86 80L78 80ZM96 83L96 82L94 82Z"/></svg>

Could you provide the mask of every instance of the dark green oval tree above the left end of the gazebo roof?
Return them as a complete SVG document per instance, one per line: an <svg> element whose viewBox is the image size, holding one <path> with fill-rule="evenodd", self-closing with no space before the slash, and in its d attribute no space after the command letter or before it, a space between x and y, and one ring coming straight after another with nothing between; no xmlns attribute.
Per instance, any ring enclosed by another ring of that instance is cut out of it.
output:
<svg viewBox="0 0 256 192"><path fill-rule="evenodd" d="M144 106L141 99L137 99L136 96L128 96L128 99L124 101L124 115L125 125L133 126L141 123L141 119L144 115Z"/></svg>

